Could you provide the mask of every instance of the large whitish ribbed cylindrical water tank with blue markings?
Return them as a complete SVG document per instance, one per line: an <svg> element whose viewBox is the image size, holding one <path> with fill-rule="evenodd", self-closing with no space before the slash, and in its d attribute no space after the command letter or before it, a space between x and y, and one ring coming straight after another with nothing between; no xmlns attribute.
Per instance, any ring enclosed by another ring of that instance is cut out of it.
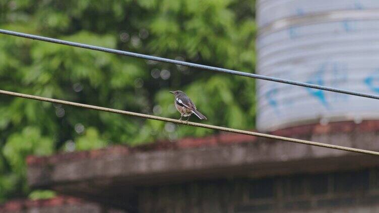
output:
<svg viewBox="0 0 379 213"><path fill-rule="evenodd" d="M379 1L257 2L257 72L379 94ZM379 119L379 100L258 80L260 131Z"/></svg>

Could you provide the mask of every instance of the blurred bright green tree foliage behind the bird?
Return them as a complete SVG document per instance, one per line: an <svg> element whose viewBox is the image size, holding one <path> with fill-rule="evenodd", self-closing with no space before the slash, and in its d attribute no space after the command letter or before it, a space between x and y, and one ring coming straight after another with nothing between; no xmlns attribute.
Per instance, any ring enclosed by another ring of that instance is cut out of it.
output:
<svg viewBox="0 0 379 213"><path fill-rule="evenodd" d="M0 28L253 72L254 0L0 0ZM0 87L179 118L183 90L207 123L254 128L255 82L103 52L0 35ZM192 121L198 121L196 117ZM27 155L131 146L211 130L0 96L0 202L31 191ZM34 191L31 198L53 196Z"/></svg>

